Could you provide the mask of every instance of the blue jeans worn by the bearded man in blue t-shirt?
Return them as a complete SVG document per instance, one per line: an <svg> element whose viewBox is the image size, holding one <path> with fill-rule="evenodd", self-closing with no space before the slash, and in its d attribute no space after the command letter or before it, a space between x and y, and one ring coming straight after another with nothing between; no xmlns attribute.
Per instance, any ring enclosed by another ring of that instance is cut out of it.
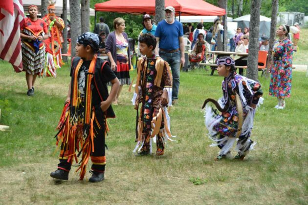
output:
<svg viewBox="0 0 308 205"><path fill-rule="evenodd" d="M169 63L172 71L172 100L177 100L179 89L179 71L181 52L168 53L166 51L159 51L159 56Z"/></svg>

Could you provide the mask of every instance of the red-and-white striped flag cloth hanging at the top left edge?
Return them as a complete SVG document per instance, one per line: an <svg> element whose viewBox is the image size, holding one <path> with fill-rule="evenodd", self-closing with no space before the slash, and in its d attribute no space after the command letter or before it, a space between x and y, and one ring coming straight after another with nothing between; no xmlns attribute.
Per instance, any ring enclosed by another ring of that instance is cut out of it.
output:
<svg viewBox="0 0 308 205"><path fill-rule="evenodd" d="M0 59L22 71L20 26L24 19L22 0L0 0Z"/></svg>

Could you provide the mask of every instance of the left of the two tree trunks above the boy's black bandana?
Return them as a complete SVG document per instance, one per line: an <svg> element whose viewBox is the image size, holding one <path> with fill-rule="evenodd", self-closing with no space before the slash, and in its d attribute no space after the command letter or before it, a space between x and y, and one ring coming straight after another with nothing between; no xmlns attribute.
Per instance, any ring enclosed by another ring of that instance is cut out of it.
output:
<svg viewBox="0 0 308 205"><path fill-rule="evenodd" d="M81 22L80 22L80 5L79 0L69 1L70 10L70 38L71 38L71 56L74 57L75 46L78 36L81 35Z"/></svg>

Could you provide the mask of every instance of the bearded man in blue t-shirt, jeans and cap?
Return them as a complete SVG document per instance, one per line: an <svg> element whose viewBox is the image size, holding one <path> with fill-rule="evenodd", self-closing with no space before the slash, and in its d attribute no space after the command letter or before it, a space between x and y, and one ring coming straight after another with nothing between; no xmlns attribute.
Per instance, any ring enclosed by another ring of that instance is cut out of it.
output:
<svg viewBox="0 0 308 205"><path fill-rule="evenodd" d="M157 25L155 37L159 47L159 56L170 64L172 71L172 104L177 104L180 63L185 64L183 26L175 20L175 8L165 8L165 20ZM155 50L158 54L158 49Z"/></svg>

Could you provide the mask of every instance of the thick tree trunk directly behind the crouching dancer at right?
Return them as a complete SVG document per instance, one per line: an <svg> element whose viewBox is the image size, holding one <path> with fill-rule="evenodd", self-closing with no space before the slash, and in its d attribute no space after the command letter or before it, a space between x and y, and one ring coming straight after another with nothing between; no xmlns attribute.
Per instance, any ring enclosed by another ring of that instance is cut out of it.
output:
<svg viewBox="0 0 308 205"><path fill-rule="evenodd" d="M249 23L249 55L247 59L247 78L258 80L258 54L261 0L251 0Z"/></svg>

